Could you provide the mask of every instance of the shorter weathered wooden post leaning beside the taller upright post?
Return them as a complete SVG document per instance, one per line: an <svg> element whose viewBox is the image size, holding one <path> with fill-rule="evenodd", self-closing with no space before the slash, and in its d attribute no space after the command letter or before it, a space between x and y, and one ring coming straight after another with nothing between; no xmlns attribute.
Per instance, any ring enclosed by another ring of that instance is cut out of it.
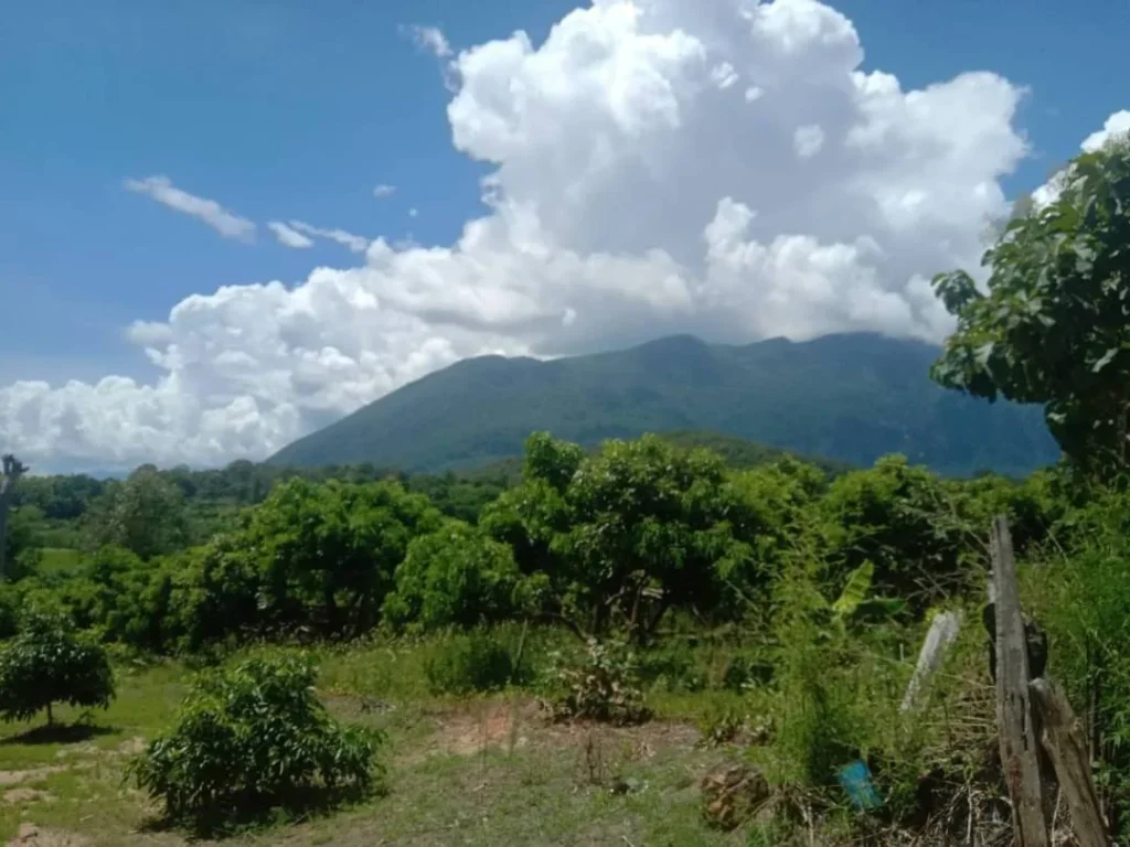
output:
<svg viewBox="0 0 1130 847"><path fill-rule="evenodd" d="M1078 847L1110 847L1098 792L1090 775L1083 723L1072 711L1063 689L1052 680L1033 680L1028 688L1043 727L1041 741L1055 766L1055 777L1071 810L1071 831Z"/></svg>

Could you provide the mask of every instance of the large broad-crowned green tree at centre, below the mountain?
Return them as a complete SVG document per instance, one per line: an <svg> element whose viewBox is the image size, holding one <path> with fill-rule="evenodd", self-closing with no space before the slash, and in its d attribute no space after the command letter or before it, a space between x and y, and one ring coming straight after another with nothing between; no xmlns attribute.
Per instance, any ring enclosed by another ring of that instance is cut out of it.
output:
<svg viewBox="0 0 1130 847"><path fill-rule="evenodd" d="M718 606L721 575L751 556L748 522L721 460L654 436L607 442L593 456L534 435L523 482L484 512L515 545L523 573L545 574L551 611L580 630L645 639L672 606Z"/></svg>

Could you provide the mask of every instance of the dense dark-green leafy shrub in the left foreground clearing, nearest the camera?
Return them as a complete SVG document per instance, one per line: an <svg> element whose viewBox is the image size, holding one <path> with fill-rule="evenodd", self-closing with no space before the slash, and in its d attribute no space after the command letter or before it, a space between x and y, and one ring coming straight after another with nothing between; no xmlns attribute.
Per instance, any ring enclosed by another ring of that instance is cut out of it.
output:
<svg viewBox="0 0 1130 847"><path fill-rule="evenodd" d="M299 658L206 671L175 727L133 759L128 777L172 821L211 829L272 807L333 805L370 791L382 736L333 721Z"/></svg>

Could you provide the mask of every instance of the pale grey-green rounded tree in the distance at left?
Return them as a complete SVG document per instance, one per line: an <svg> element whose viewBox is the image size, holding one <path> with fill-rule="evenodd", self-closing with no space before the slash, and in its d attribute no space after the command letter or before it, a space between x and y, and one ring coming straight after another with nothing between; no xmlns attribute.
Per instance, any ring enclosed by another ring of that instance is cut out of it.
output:
<svg viewBox="0 0 1130 847"><path fill-rule="evenodd" d="M188 541L184 495L156 468L142 465L92 504L87 525L96 547L116 544L142 559L168 553Z"/></svg>

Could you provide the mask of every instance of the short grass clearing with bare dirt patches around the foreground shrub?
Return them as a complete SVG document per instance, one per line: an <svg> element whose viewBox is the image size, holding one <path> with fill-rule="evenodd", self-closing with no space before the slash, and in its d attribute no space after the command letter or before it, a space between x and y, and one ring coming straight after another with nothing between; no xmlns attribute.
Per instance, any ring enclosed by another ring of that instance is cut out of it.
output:
<svg viewBox="0 0 1130 847"><path fill-rule="evenodd" d="M697 743L689 718L702 702L658 702L659 718L638 727L555 725L529 695L433 697L419 664L411 650L375 646L322 657L319 693L331 711L388 733L383 796L226 842L623 846L748 838L713 831L698 817L698 780L725 758ZM116 672L118 699L86 726L49 733L37 721L0 730L2 842L188 842L159 828L156 810L123 785L122 772L129 756L172 722L191 671L120 660ZM80 717L56 714L60 722Z"/></svg>

